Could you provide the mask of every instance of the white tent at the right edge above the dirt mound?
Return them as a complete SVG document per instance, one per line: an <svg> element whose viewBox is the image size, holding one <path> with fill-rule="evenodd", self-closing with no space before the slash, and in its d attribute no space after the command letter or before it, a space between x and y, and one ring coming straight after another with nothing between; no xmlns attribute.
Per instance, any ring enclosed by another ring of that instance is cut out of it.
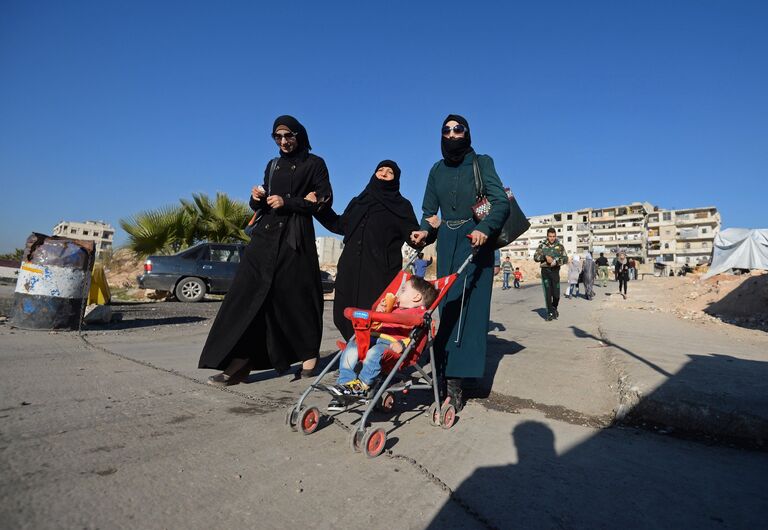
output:
<svg viewBox="0 0 768 530"><path fill-rule="evenodd" d="M704 278L730 269L768 270L768 229L728 228L715 236L712 265Z"/></svg>

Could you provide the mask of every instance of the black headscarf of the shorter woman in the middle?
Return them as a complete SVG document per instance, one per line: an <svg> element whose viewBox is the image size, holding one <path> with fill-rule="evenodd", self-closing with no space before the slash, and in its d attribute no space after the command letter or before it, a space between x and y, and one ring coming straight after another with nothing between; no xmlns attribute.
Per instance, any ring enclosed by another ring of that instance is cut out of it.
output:
<svg viewBox="0 0 768 530"><path fill-rule="evenodd" d="M382 167L391 168L395 178L392 180L376 178L376 171ZM403 219L410 219L413 216L411 203L400 195L400 167L393 160L379 162L363 192L349 201L347 209L344 210L344 217L345 224L351 229L346 234L345 242L351 235L352 229L360 224L366 214L382 210L387 210L392 215Z"/></svg>

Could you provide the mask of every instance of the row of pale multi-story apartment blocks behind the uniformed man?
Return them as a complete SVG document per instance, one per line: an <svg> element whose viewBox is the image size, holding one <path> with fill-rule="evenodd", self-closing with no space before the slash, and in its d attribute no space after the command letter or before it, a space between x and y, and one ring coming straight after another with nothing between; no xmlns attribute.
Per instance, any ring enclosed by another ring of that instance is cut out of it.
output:
<svg viewBox="0 0 768 530"><path fill-rule="evenodd" d="M502 249L504 256L532 258L554 228L569 254L623 250L641 262L661 256L670 265L697 264L709 261L720 230L714 207L663 210L647 202L537 215L530 222L527 232Z"/></svg>

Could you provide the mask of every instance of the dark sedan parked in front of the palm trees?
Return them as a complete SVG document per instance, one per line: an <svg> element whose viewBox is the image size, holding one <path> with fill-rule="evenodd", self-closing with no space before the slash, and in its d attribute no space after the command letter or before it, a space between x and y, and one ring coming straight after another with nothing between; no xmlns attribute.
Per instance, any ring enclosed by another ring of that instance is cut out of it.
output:
<svg viewBox="0 0 768 530"><path fill-rule="evenodd" d="M169 291L181 302L199 302L206 293L226 294L243 250L242 243L200 243L172 256L149 256L137 278L139 288ZM333 277L325 271L320 275L323 292L332 292Z"/></svg>

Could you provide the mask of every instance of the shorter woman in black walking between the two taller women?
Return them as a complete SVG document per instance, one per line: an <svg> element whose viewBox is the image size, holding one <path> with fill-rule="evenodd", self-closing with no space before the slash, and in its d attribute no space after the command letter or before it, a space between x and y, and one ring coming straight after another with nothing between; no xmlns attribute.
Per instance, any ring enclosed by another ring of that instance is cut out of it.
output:
<svg viewBox="0 0 768 530"><path fill-rule="evenodd" d="M333 323L345 340L354 334L347 307L370 308L403 266L402 247L418 229L411 203L400 195L400 168L392 160L376 166L363 192L341 215L327 208L317 215L331 232L344 236L339 258Z"/></svg>

